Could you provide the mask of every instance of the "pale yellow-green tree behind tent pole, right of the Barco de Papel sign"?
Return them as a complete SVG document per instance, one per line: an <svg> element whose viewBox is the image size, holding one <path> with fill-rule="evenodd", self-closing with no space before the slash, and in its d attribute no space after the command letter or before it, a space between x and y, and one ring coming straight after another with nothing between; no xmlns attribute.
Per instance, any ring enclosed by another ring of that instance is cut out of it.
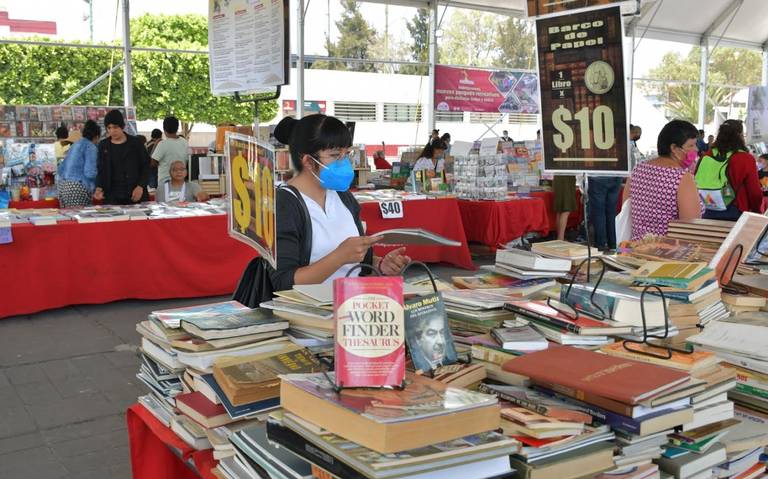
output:
<svg viewBox="0 0 768 479"><path fill-rule="evenodd" d="M671 116L696 123L699 118L700 65L700 47L692 48L686 57L676 52L667 53L648 74L649 78L662 81L642 82L640 88L646 94L663 98ZM718 47L710 53L706 123L713 120L715 107L729 105L738 92L738 89L718 85L757 85L761 65L760 54L751 50Z"/></svg>

